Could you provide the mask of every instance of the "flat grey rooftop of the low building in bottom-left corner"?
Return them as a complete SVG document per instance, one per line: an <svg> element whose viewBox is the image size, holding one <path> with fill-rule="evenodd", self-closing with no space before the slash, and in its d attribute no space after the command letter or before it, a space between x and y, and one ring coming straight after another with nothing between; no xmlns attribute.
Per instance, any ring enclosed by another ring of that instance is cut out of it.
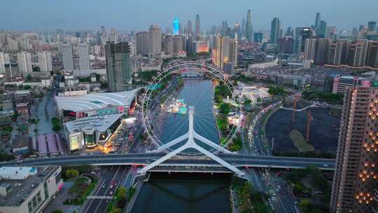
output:
<svg viewBox="0 0 378 213"><path fill-rule="evenodd" d="M26 179L3 179L0 181L0 186L9 185L11 188L10 194L6 196L0 196L0 206L19 206L21 203L31 194L32 191L43 180L50 177L58 167L1 167L0 171L15 172L22 171L20 168L25 168L25 172L29 170L36 170L36 174L29 175ZM35 173L35 171L33 171Z"/></svg>

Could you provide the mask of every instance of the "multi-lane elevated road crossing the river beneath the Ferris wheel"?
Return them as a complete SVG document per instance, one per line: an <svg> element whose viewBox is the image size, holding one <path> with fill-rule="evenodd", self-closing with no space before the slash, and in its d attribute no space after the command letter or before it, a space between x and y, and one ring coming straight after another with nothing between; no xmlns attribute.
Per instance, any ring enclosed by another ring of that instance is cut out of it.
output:
<svg viewBox="0 0 378 213"><path fill-rule="evenodd" d="M55 158L36 158L24 160L20 163L0 163L1 165L146 165L150 164L165 153L127 153L89 156L66 156ZM272 168L305 168L309 165L321 170L334 170L335 160L324 158L295 158L279 156L246 156L237 154L218 154L226 162L237 167L272 167ZM219 166L210 158L176 157L165 160L161 165L197 165Z"/></svg>

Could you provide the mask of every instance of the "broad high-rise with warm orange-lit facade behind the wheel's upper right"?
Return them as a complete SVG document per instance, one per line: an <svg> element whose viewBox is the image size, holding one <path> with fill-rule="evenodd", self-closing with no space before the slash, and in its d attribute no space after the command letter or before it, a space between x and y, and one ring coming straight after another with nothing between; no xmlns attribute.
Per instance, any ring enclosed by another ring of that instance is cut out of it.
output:
<svg viewBox="0 0 378 213"><path fill-rule="evenodd" d="M237 41L230 36L216 36L212 59L213 64L220 69L223 69L225 63L237 67Z"/></svg>

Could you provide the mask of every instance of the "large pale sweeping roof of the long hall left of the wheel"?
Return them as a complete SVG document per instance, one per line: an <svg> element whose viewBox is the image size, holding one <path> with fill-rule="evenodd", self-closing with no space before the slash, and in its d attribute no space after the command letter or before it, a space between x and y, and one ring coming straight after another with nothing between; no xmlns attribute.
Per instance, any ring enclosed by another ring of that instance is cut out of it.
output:
<svg viewBox="0 0 378 213"><path fill-rule="evenodd" d="M59 110L86 111L106 107L128 107L140 88L123 92L96 92L76 96L55 96Z"/></svg>

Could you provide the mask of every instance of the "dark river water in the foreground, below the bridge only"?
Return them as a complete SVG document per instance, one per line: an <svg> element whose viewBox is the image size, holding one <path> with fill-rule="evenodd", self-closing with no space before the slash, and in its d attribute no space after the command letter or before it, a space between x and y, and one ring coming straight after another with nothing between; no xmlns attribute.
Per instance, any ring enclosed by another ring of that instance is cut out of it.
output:
<svg viewBox="0 0 378 213"><path fill-rule="evenodd" d="M230 213L230 174L153 173L133 213Z"/></svg>

